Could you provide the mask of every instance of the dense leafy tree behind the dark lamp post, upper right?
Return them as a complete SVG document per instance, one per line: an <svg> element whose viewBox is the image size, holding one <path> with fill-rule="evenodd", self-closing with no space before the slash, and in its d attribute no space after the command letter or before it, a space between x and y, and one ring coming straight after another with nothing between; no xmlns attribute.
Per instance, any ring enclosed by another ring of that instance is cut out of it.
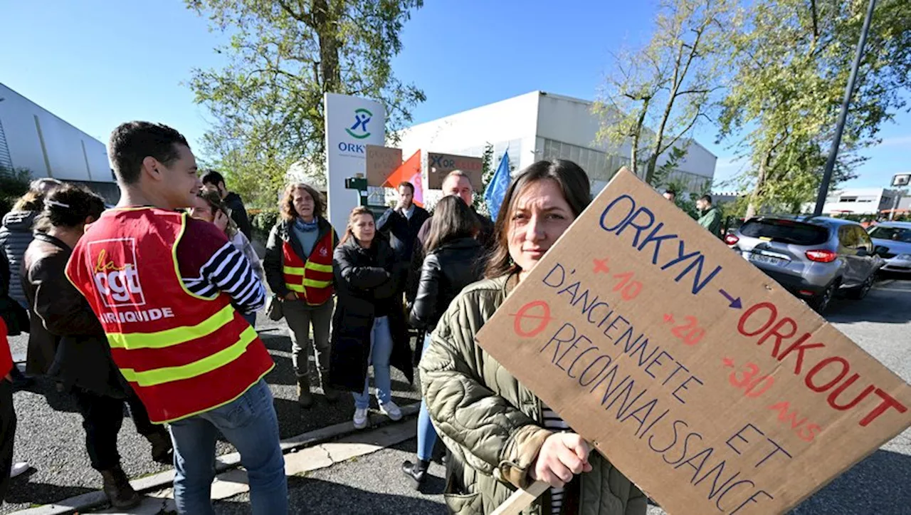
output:
<svg viewBox="0 0 911 515"><path fill-rule="evenodd" d="M865 15L855 0L761 0L732 32L735 77L722 102L722 139L749 166L746 216L760 206L800 211L815 197ZM911 3L876 6L834 183L850 179L882 123L905 106L911 80Z"/></svg>

